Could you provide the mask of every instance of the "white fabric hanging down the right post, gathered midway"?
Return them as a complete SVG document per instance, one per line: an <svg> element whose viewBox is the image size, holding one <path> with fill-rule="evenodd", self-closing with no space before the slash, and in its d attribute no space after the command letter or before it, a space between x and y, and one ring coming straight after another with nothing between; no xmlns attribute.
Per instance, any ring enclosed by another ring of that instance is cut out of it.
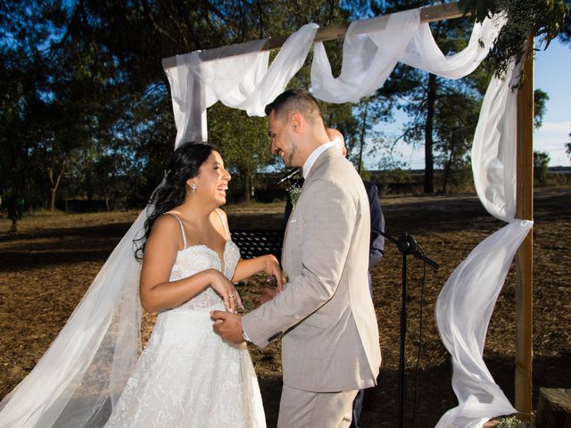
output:
<svg viewBox="0 0 571 428"><path fill-rule="evenodd" d="M443 287L436 324L451 353L452 388L459 400L436 428L479 428L493 416L516 413L484 364L485 333L519 245L533 226L516 213L517 82L520 68L493 78L484 96L472 146L476 192L492 216L508 222L479 243Z"/></svg>

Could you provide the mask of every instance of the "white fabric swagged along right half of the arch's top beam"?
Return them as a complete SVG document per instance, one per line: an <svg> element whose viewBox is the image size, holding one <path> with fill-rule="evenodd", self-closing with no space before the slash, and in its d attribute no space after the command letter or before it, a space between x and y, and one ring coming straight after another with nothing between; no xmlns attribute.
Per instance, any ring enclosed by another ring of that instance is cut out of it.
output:
<svg viewBox="0 0 571 428"><path fill-rule="evenodd" d="M503 25L503 18L476 24L468 46L445 56L420 24L419 9L352 22L343 42L341 74L334 78L322 43L314 47L311 93L327 103L356 103L384 85L397 62L445 78L463 78L484 60Z"/></svg>

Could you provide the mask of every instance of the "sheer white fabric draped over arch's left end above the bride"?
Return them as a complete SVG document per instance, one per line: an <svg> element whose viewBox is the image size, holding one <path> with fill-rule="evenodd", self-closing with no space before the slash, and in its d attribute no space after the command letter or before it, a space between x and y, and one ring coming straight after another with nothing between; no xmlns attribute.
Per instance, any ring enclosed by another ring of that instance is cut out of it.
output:
<svg viewBox="0 0 571 428"><path fill-rule="evenodd" d="M264 116L264 107L302 67L318 28L309 23L287 37L269 68L269 51L260 51L266 40L217 49L217 59L203 60L200 51L178 55L177 65L165 68L177 125L175 147L207 139L206 108L217 101Z"/></svg>

